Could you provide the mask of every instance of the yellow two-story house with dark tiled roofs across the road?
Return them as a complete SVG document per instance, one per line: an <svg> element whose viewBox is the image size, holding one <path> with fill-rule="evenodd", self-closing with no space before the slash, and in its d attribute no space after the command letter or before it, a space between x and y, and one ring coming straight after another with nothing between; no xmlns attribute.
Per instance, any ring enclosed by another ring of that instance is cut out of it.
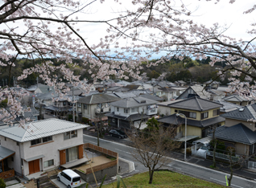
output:
<svg viewBox="0 0 256 188"><path fill-rule="evenodd" d="M175 101L175 100L174 100ZM165 126L181 125L177 130L177 137L184 137L185 123L187 121L187 135L194 137L206 137L213 126L225 124L225 118L219 116L222 104L204 100L200 97L192 97L186 100L168 104L171 108L170 116L159 118ZM176 116L176 114L182 114Z"/></svg>

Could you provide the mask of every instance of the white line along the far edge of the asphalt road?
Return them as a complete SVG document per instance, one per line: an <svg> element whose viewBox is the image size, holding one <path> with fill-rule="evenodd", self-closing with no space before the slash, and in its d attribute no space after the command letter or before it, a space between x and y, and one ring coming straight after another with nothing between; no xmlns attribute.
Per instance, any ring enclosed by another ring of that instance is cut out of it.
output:
<svg viewBox="0 0 256 188"><path fill-rule="evenodd" d="M85 135L86 137L93 137L93 136L89 136L89 135L87 135L87 134L84 134L84 135ZM93 137L93 138L94 138L94 139L97 139L96 137ZM104 140L104 139L101 139L101 138L100 138L100 140L107 141L107 140ZM129 146L129 145L120 144L120 143L117 143L117 142L114 142L114 141L107 141L107 142L111 142L111 143L116 144L116 145L122 145L122 146L125 146L125 147L127 147L127 148L134 149L133 147L131 147L131 146ZM196 167L198 167L198 168L201 168L201 169L204 169L204 170L209 170L209 171L212 171L212 172L215 172L215 173L218 172L219 174L226 174L226 173L222 173L221 171L212 170L212 169L206 168L206 167L204 167L204 166L199 166L199 165L192 164L192 163L190 163L190 162L180 161L180 160L178 160L178 159L171 158L171 157L167 157L167 158L169 158L169 159L171 159L171 160L173 160L173 161L178 161L178 162L184 163L184 164L186 164L186 165L189 164L190 166L196 166ZM238 178L238 179L242 179L242 180L245 180L245 181L248 181L248 182L253 182L253 183L255 183L255 182L252 181L252 180L249 180L249 179L246 179L246 178L241 178L241 177L239 177L239 176L237 176L237 175L233 175L233 178Z"/></svg>

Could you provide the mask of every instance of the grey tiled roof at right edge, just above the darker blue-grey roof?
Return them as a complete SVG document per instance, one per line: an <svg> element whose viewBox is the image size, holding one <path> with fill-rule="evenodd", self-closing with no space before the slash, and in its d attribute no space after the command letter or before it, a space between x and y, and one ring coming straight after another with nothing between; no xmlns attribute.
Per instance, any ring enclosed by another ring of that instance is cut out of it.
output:
<svg viewBox="0 0 256 188"><path fill-rule="evenodd" d="M250 119L256 120L253 115L255 112L256 112L256 104L250 104L240 109L236 109L231 112L226 112L224 114L221 114L221 116L229 119L248 121Z"/></svg>

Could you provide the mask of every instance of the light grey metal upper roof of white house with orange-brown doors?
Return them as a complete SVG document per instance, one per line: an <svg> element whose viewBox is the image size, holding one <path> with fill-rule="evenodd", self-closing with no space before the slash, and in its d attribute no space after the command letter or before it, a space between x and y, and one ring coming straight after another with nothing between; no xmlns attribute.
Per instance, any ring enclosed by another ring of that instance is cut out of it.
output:
<svg viewBox="0 0 256 188"><path fill-rule="evenodd" d="M8 137L14 141L24 142L72 130L84 129L88 126L89 125L81 125L71 121L52 118L43 121L31 122L25 125L24 128L21 126L14 126L6 129L0 129L0 135Z"/></svg>

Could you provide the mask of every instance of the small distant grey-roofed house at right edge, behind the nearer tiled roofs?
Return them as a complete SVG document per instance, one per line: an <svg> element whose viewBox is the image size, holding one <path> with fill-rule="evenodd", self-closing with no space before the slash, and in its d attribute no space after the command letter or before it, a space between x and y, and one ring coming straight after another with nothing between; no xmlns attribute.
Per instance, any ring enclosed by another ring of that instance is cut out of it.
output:
<svg viewBox="0 0 256 188"><path fill-rule="evenodd" d="M225 96L222 100L225 100L229 103L246 106L248 104L253 104L254 99L250 96L239 96L238 94L233 94L231 96Z"/></svg>

